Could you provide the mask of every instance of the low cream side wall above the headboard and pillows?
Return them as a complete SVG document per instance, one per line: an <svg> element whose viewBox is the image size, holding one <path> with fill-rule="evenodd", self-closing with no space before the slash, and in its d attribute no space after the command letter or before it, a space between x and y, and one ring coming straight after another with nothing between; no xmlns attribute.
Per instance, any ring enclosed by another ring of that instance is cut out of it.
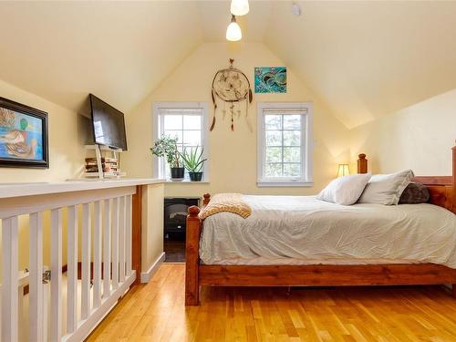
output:
<svg viewBox="0 0 456 342"><path fill-rule="evenodd" d="M456 139L456 89L350 130L352 161L368 154L375 172L412 169L451 175Z"/></svg>

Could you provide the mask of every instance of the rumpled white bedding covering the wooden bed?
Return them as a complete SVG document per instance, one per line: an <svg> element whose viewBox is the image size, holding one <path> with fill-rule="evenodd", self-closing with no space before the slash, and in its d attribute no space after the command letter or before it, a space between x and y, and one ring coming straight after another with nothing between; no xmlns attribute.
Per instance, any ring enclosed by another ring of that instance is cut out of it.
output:
<svg viewBox="0 0 456 342"><path fill-rule="evenodd" d="M203 222L203 264L435 263L456 268L456 215L431 204L343 206L315 196L248 196L247 219ZM283 262L283 263L282 263Z"/></svg>

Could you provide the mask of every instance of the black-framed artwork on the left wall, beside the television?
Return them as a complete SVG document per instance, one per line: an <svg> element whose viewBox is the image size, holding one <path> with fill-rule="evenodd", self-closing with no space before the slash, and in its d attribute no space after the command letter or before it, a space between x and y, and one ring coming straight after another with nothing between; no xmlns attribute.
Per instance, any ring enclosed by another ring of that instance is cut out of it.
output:
<svg viewBox="0 0 456 342"><path fill-rule="evenodd" d="M46 112L0 98L0 167L49 167Z"/></svg>

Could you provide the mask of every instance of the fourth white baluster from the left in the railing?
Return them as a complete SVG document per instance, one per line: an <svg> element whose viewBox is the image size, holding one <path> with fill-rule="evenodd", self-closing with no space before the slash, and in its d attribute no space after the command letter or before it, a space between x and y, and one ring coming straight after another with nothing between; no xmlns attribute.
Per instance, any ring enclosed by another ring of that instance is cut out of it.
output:
<svg viewBox="0 0 456 342"><path fill-rule="evenodd" d="M52 276L51 276L52 277ZM67 228L67 333L78 326L78 206L68 207Z"/></svg>

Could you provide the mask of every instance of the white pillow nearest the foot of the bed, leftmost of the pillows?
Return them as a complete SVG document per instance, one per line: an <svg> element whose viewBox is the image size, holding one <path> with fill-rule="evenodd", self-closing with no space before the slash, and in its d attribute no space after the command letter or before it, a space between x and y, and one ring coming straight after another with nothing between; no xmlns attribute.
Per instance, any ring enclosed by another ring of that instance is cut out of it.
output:
<svg viewBox="0 0 456 342"><path fill-rule="evenodd" d="M342 205L354 204L363 193L371 176L370 173L364 173L339 177L327 184L326 188L318 193L316 199Z"/></svg>

